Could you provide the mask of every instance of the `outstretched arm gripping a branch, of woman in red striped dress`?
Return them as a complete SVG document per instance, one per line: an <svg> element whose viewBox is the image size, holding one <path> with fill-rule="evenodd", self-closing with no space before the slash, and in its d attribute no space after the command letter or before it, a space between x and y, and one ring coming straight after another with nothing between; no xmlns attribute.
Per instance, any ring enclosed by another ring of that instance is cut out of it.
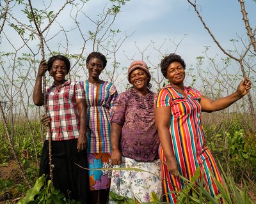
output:
<svg viewBox="0 0 256 204"><path fill-rule="evenodd" d="M217 110L222 110L232 105L232 103L243 98L244 95L248 93L248 90L251 89L252 83L250 80L243 78L242 82L238 85L237 91L229 96L212 100L205 96L201 96L200 105L202 106L202 111L204 112L214 112Z"/></svg>

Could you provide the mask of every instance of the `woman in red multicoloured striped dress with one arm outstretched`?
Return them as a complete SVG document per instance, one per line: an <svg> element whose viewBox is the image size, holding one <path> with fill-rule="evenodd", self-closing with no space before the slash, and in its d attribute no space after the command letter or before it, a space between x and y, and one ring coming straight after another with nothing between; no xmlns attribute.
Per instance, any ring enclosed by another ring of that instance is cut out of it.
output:
<svg viewBox="0 0 256 204"><path fill-rule="evenodd" d="M202 96L191 87L184 86L186 64L177 54L170 54L161 61L161 71L170 84L156 95L154 112L158 130L161 171L166 200L176 203L179 197L174 191L184 189L185 182L179 175L191 180L200 166L205 187L216 196L218 187L214 184L211 171L218 181L220 172L205 147L205 134L202 129L201 112L214 112L227 108L251 88L250 80L243 79L233 94L212 100ZM201 177L201 178L202 178ZM220 203L224 201L220 198Z"/></svg>

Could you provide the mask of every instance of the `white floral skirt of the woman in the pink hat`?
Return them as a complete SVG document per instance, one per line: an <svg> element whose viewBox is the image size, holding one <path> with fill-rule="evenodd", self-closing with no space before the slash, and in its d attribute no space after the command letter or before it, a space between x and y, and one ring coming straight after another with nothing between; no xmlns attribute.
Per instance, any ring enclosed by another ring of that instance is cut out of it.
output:
<svg viewBox="0 0 256 204"><path fill-rule="evenodd" d="M149 202L154 191L160 198L162 194L160 159L153 162L138 162L122 157L122 164L113 168L138 168L145 171L113 170L110 191L121 196ZM115 203L111 201L110 203Z"/></svg>

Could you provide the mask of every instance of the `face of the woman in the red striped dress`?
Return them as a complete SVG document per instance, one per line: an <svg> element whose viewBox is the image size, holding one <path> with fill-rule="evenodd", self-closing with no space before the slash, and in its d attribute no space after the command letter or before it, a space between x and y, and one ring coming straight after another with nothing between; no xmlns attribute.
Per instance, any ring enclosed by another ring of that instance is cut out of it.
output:
<svg viewBox="0 0 256 204"><path fill-rule="evenodd" d="M179 85L182 84L185 78L185 69L180 62L172 62L166 71L166 78L170 81L170 84Z"/></svg>

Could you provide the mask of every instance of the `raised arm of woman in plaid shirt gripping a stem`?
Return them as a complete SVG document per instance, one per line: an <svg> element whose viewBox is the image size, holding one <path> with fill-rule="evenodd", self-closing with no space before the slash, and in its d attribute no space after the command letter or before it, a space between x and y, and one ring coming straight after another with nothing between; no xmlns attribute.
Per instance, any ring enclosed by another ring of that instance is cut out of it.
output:
<svg viewBox="0 0 256 204"><path fill-rule="evenodd" d="M33 101L36 106L44 105L44 95L42 91L42 77L47 71L47 63L45 60L42 60L39 64L38 73L36 77L36 84L33 90Z"/></svg>

